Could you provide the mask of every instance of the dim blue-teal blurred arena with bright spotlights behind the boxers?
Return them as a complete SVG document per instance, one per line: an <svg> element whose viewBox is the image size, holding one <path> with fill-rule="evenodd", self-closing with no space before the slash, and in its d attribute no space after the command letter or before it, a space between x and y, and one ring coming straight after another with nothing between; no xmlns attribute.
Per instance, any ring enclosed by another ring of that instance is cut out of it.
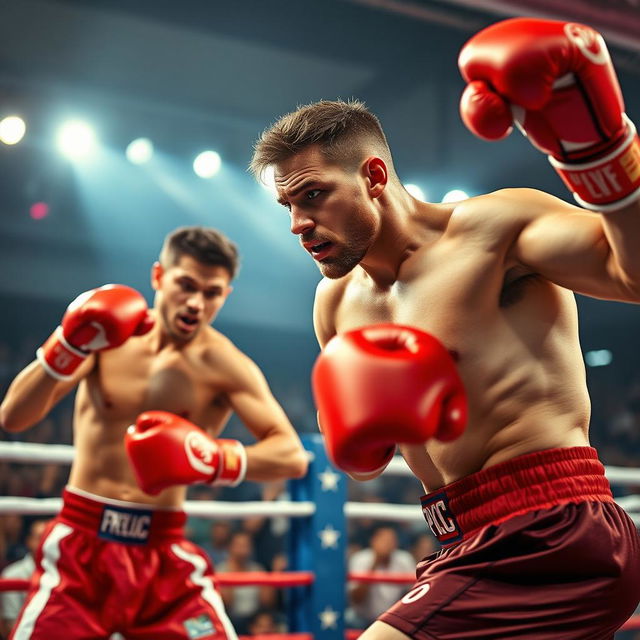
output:
<svg viewBox="0 0 640 640"><path fill-rule="evenodd" d="M458 114L460 47L514 15L597 28L640 122L638 0L0 0L3 392L78 293L118 282L151 303L149 270L165 234L201 224L228 234L242 256L216 326L260 365L296 427L315 431L308 381L319 273L286 212L247 173L253 142L298 105L353 97L380 117L401 179L426 200L520 186L569 200L519 133L482 142ZM639 466L640 309L578 303L592 441L606 464ZM70 443L70 407L0 437ZM240 425L230 435L242 439ZM1 492L57 496L66 473L0 463ZM350 497L419 495L405 481L354 486ZM27 523L3 520L2 566L28 537ZM356 537L356 548L367 545ZM400 532L405 549L418 538Z"/></svg>

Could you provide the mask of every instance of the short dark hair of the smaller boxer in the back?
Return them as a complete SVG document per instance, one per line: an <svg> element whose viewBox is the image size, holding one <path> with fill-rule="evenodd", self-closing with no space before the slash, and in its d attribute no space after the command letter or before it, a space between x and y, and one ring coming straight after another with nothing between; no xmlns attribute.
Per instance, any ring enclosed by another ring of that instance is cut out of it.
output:
<svg viewBox="0 0 640 640"><path fill-rule="evenodd" d="M184 255L206 265L224 267L231 280L238 273L240 258L235 243L212 227L179 227L167 235L160 251L160 264L168 269Z"/></svg>

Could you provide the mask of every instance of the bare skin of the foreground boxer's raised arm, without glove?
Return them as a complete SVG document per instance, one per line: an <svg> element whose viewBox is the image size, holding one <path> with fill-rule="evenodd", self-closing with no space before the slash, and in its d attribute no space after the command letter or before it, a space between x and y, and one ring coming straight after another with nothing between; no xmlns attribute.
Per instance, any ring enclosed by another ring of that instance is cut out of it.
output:
<svg viewBox="0 0 640 640"><path fill-rule="evenodd" d="M638 203L602 215L530 189L491 197L494 214L521 225L512 247L516 261L583 295L640 302Z"/></svg>

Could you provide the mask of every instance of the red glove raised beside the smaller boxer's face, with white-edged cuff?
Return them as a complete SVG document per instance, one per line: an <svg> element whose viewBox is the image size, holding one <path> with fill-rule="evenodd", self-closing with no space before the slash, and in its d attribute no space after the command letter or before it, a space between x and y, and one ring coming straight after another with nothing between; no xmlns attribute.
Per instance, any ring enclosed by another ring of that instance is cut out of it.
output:
<svg viewBox="0 0 640 640"><path fill-rule="evenodd" d="M81 293L67 307L61 325L36 356L49 375L69 380L90 352L119 347L151 327L153 318L140 293L121 284L106 284Z"/></svg>

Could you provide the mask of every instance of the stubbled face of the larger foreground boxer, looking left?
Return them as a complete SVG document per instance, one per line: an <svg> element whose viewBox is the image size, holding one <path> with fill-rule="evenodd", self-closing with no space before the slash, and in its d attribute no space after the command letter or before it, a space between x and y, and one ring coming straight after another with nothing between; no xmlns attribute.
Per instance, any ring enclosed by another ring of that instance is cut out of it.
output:
<svg viewBox="0 0 640 640"><path fill-rule="evenodd" d="M275 167L278 202L289 210L291 233L322 275L340 278L371 247L379 218L362 172L330 164L309 147Z"/></svg>

